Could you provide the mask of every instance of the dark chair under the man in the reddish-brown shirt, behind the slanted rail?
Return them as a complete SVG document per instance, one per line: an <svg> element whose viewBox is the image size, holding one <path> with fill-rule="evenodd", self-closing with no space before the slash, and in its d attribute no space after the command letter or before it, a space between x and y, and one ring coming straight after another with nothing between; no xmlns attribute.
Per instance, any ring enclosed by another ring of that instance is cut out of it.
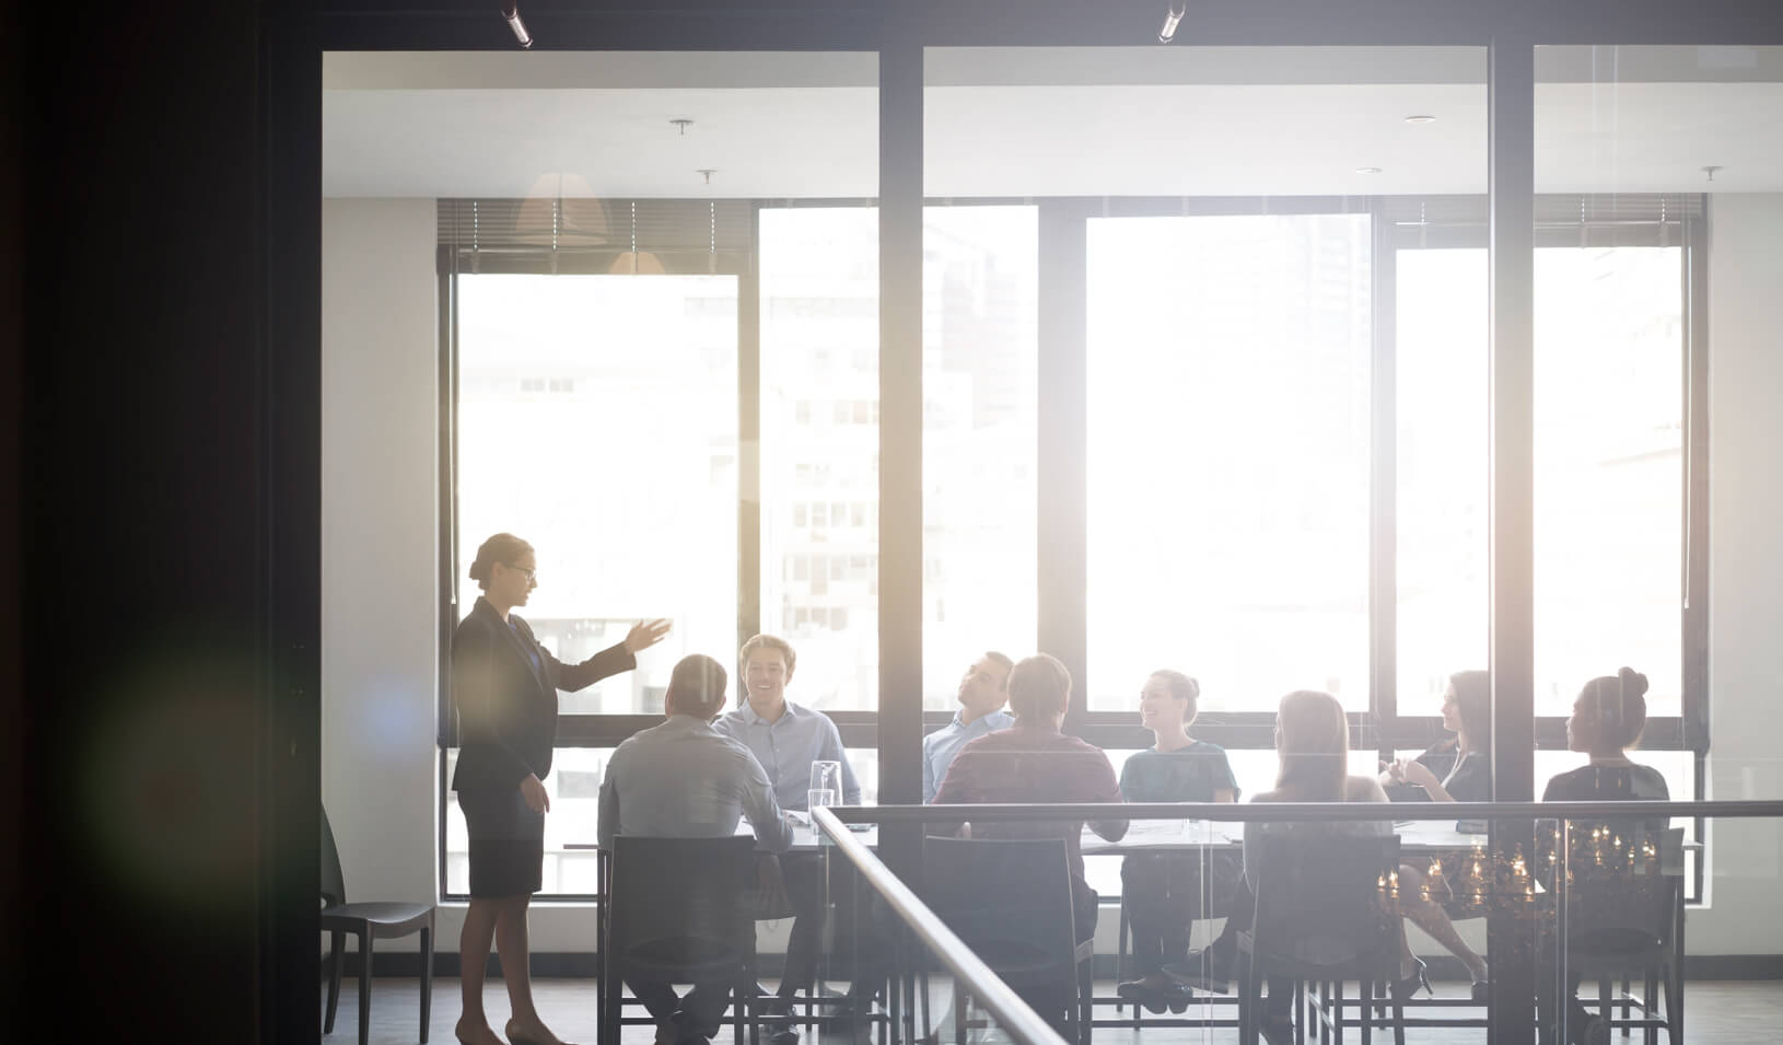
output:
<svg viewBox="0 0 1783 1045"><path fill-rule="evenodd" d="M1059 838L925 838L922 899L984 965L1068 1040L1089 1040L1089 940L1077 942ZM963 1015L963 1002L956 1002Z"/></svg>

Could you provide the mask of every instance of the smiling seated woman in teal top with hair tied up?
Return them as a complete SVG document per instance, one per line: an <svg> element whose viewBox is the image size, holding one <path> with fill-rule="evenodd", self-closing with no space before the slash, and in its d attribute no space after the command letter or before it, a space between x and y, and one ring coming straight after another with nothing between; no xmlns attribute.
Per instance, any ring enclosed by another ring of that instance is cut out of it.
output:
<svg viewBox="0 0 1783 1045"><path fill-rule="evenodd" d="M1139 692L1139 722L1157 742L1127 760L1120 794L1129 802L1236 802L1237 781L1225 749L1189 736L1202 687L1180 671L1155 671ZM1122 861L1122 904L1132 931L1139 979L1116 993L1154 1013L1184 1011L1189 990L1164 975L1166 963L1186 961L1189 922L1211 917L1216 902L1232 895L1239 863L1214 854L1205 863L1193 852L1136 852Z"/></svg>

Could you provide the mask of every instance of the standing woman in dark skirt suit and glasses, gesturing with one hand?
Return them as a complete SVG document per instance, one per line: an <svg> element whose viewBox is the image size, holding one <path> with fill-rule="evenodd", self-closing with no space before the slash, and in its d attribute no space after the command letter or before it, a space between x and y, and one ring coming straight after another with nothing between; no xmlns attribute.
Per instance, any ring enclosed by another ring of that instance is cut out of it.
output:
<svg viewBox="0 0 1783 1045"><path fill-rule="evenodd" d="M514 1045L558 1045L528 977L526 908L542 886L544 826L558 690L579 690L638 665L637 653L669 633L667 621L637 624L626 640L581 663L560 663L514 613L538 581L533 546L497 533L476 549L471 580L483 588L451 640L451 694L460 749L453 790L471 836L471 909L458 936L465 1045L501 1045L483 1013L483 967L494 940L508 983Z"/></svg>

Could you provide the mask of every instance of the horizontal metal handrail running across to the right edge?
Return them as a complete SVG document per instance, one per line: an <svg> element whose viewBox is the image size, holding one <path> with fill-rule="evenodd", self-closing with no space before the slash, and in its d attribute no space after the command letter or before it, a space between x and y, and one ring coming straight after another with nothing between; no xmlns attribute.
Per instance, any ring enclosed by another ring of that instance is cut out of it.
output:
<svg viewBox="0 0 1783 1045"><path fill-rule="evenodd" d="M1585 820L1626 817L1783 819L1783 801L1715 802L1007 802L982 806L833 806L843 824L961 820Z"/></svg>

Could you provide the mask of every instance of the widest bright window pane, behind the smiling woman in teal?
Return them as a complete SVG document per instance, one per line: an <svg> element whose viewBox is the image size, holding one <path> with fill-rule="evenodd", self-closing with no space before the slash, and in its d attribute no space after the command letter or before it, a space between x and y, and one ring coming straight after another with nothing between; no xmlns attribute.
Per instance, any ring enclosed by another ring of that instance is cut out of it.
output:
<svg viewBox="0 0 1783 1045"><path fill-rule="evenodd" d="M1368 706L1369 218L1089 221L1091 710Z"/></svg>

